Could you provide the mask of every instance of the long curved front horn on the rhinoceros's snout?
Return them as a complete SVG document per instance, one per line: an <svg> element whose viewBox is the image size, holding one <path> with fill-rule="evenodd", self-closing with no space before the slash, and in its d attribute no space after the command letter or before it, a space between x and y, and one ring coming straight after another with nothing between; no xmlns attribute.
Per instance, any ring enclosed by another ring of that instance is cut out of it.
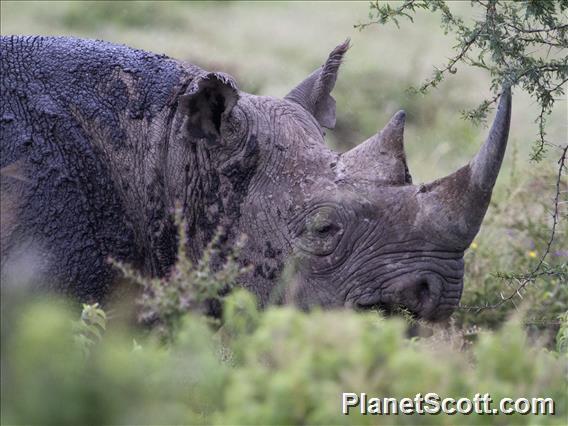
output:
<svg viewBox="0 0 568 426"><path fill-rule="evenodd" d="M489 136L470 163L449 176L419 186L419 221L431 232L467 248L479 231L507 147L511 90L503 89Z"/></svg>

